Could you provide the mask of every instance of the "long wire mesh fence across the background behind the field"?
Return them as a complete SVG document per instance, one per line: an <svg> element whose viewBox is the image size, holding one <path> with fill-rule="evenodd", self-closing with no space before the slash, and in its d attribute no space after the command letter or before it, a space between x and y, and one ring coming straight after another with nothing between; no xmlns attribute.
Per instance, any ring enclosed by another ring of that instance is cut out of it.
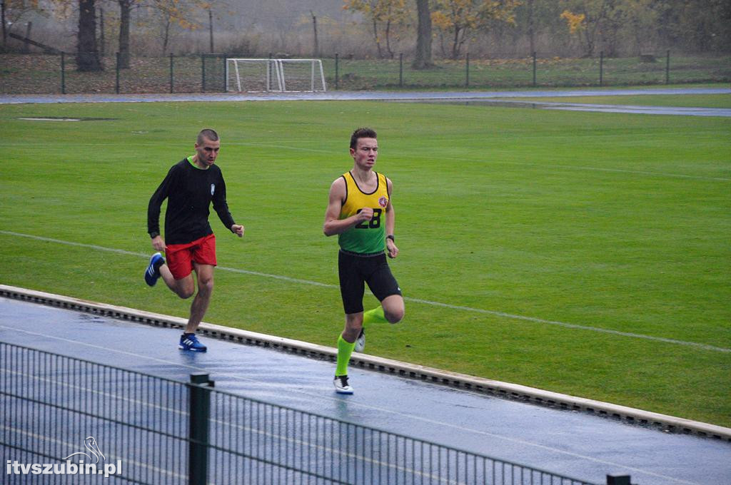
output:
<svg viewBox="0 0 731 485"><path fill-rule="evenodd" d="M221 93L227 90L226 58L242 57L248 56L133 56L129 68L123 69L118 55L102 56L102 71L79 72L75 56L67 53L0 54L0 64L7 66L0 69L0 93ZM578 59L539 58L535 53L515 59L467 55L453 61L435 61L429 69L413 69L411 63L412 59L404 55L355 59L336 54L322 58L322 69L328 90L662 85L731 80L731 56L671 56L670 51L630 58L608 58L603 53ZM264 75L259 81L265 83Z"/></svg>

